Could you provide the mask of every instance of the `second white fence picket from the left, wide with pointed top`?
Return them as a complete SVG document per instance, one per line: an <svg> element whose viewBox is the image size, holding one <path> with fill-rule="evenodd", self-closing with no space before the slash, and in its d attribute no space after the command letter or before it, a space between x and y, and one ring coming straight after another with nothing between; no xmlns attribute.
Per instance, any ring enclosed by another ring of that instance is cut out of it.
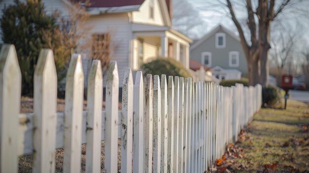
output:
<svg viewBox="0 0 309 173"><path fill-rule="evenodd" d="M51 49L42 49L34 73L34 173L55 172L57 72Z"/></svg>

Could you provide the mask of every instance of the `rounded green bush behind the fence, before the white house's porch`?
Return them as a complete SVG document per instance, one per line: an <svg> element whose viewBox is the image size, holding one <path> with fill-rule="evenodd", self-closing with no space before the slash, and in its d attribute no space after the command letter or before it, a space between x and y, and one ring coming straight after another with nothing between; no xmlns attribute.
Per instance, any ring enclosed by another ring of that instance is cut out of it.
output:
<svg viewBox="0 0 309 173"><path fill-rule="evenodd" d="M142 69L145 74L179 77L192 77L189 70L187 70L180 62L172 58L157 58L149 63L143 64Z"/></svg>

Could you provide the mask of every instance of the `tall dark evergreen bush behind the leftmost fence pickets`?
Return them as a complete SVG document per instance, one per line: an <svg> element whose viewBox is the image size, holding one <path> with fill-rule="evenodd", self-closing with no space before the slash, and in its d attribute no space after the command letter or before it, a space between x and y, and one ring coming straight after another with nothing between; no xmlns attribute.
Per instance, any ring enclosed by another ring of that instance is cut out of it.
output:
<svg viewBox="0 0 309 173"><path fill-rule="evenodd" d="M33 76L42 48L54 52L56 69L59 73L70 58L70 51L64 50L55 31L59 30L54 16L45 13L42 0L15 0L2 10L0 19L2 40L14 44L22 72L22 94L33 94ZM68 52L68 53L66 53Z"/></svg>

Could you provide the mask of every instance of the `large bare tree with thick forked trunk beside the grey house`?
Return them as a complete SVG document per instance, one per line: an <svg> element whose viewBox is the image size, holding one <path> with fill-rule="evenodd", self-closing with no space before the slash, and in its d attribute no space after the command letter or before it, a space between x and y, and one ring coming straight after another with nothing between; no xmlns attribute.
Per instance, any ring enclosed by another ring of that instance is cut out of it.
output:
<svg viewBox="0 0 309 173"><path fill-rule="evenodd" d="M244 28L235 14L235 6L243 5L242 2L226 0L232 21L239 33L240 42L248 63L249 84L261 83L264 87L268 85L271 22L278 15L289 11L297 3L303 0L259 0L257 4L251 0L245 0L247 14L247 28L249 29L249 40L244 35Z"/></svg>

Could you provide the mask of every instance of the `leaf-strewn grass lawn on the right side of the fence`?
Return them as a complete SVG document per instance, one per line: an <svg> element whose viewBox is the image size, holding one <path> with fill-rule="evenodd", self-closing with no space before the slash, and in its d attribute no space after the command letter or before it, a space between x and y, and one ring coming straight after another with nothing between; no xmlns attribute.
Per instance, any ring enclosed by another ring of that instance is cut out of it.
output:
<svg viewBox="0 0 309 173"><path fill-rule="evenodd" d="M229 157L225 166L232 173L309 173L308 126L308 104L261 109L234 146L244 157Z"/></svg>

